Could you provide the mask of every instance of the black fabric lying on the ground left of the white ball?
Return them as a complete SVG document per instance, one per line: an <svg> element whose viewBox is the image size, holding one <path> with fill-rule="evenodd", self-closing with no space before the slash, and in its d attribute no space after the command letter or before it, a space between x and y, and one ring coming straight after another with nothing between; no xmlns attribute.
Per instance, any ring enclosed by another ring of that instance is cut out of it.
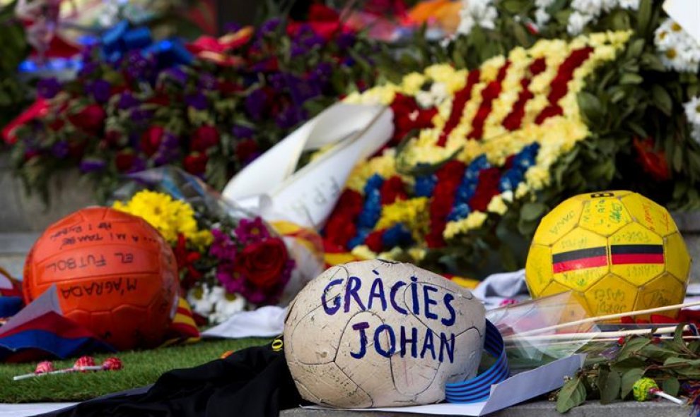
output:
<svg viewBox="0 0 700 417"><path fill-rule="evenodd" d="M303 403L284 352L260 346L164 373L145 394L95 399L43 416L276 417Z"/></svg>

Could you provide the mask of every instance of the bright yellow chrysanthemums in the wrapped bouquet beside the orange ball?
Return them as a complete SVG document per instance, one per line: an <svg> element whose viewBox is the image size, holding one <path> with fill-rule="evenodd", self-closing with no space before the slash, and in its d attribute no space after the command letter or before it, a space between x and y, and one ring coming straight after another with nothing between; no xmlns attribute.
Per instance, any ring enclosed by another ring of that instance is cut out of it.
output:
<svg viewBox="0 0 700 417"><path fill-rule="evenodd" d="M199 250L211 245L214 239L211 231L198 229L194 210L189 203L173 200L168 194L139 191L127 203L115 201L112 207L146 220L171 245L177 242L179 234L185 235L187 241Z"/></svg>

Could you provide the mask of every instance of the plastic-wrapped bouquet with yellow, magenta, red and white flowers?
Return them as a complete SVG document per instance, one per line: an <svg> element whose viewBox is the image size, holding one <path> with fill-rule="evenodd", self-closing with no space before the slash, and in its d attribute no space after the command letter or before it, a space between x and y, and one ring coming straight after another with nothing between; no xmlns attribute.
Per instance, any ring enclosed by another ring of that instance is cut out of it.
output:
<svg viewBox="0 0 700 417"><path fill-rule="evenodd" d="M112 207L142 217L173 247L183 296L212 324L240 310L286 303L322 267L320 243L286 224L279 234L180 169L129 176Z"/></svg>

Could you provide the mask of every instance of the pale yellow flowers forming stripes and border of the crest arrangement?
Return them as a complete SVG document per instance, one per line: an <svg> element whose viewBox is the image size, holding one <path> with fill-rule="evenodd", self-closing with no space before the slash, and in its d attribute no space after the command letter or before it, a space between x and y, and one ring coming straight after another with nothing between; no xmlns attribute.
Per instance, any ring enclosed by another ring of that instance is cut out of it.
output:
<svg viewBox="0 0 700 417"><path fill-rule="evenodd" d="M441 84L439 90L448 92L448 99L434 102L438 112L433 117L433 128L422 130L416 138L404 147L402 152L402 166L415 167L418 164L436 164L451 155L457 155L457 159L465 164L469 164L480 155L486 155L492 166L503 166L506 158L523 150L523 147L533 142L539 143L539 152L535 161L535 166L530 167L525 172L525 180L518 185L515 191L507 191L501 195L496 195L488 205L487 212L502 215L507 212L508 204L515 199L525 198L532 195L549 184L549 171L552 165L561 155L570 152L579 141L590 135L588 126L581 118L581 111L578 108L577 95L584 87L585 78L593 73L605 61L615 59L618 52L623 49L629 40L631 32L605 32L593 33L576 37L571 42L564 40L539 40L530 49L515 48L508 56L495 56L484 62L479 68L479 80L472 88L472 94L460 116L460 121L453 128L447 137L445 146L438 146L445 122L448 121L450 113L453 111L453 100L455 92L465 86L467 71L457 71L452 66L446 64L433 65L424 73L411 73L404 77L402 83L398 85L387 84L375 87L362 94L351 95L346 98L347 102L364 104L385 104L392 102L396 93L416 96L421 91L421 86L426 83ZM593 52L588 56L581 66L573 72L573 78L568 82L566 95L559 99L559 104L563 114L552 116L542 124L536 124L535 119L543 109L550 105L548 95L552 80L557 75L559 66L576 49L590 47ZM536 59L542 58L546 64L545 70L532 76L528 90L534 97L525 104L525 116L521 127L515 131L508 131L503 127L503 121L513 109L513 104L517 102L520 92L523 90L521 81L527 78L530 65ZM505 78L501 83L501 93L491 102L491 112L484 120L483 137L478 140L467 139L472 131L472 123L477 115L479 107L482 105L482 92L496 80L499 71L508 61L509 66L505 73ZM419 102L421 102L419 100ZM422 105L422 104L421 104ZM371 159L366 163L356 167L354 174L349 179L348 187L355 191L362 192L362 188L367 179L377 173L385 178L396 174L396 164L394 152L385 152L381 157ZM389 175L387 175L389 174ZM412 183L410 176L402 176L405 183ZM414 199L418 200L418 199ZM410 219L412 210L416 210L419 205L425 205L427 212L428 204L422 200L420 203L412 205L402 202L401 205L390 205L383 207L380 222L375 229L383 229L386 226L402 222L404 224L415 224ZM408 216L408 217L407 217ZM416 214L418 216L418 214ZM420 217L420 216L418 216ZM482 212L472 212L465 219L455 222L448 222L443 236L445 239L453 238L459 234L464 234L471 229L477 229L486 221L487 214ZM411 226L411 231L416 235L416 231L422 230ZM424 236L424 234L422 235ZM419 244L422 238L417 238ZM358 252L367 251L367 248L358 248ZM365 255L368 255L365 253ZM385 255L385 254L383 254Z"/></svg>

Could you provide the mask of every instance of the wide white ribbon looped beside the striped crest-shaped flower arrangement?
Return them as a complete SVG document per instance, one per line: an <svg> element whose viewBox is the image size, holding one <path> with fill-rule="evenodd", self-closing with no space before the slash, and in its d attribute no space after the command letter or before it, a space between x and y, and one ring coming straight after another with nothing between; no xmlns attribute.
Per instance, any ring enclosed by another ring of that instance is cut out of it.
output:
<svg viewBox="0 0 700 417"><path fill-rule="evenodd" d="M267 221L319 229L357 162L387 143L392 128L387 107L334 104L240 171L223 197ZM302 152L328 145L332 148L295 172Z"/></svg>

